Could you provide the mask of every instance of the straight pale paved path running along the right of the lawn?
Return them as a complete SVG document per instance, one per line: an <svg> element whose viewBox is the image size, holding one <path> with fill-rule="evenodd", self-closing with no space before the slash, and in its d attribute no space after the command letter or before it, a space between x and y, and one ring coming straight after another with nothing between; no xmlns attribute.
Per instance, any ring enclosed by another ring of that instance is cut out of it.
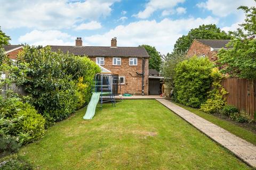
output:
<svg viewBox="0 0 256 170"><path fill-rule="evenodd" d="M187 111L186 109L173 104L166 99L156 99L161 104L171 109L175 114L195 126L199 131L206 134L215 142L233 152L238 158L252 167L256 167L256 146L252 145L236 135L220 128L219 126L206 121L204 118Z"/></svg>

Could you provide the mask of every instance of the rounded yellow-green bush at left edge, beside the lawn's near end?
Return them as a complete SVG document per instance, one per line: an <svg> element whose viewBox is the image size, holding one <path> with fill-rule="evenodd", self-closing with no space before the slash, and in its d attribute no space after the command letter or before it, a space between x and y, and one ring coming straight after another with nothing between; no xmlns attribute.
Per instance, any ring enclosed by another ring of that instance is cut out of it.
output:
<svg viewBox="0 0 256 170"><path fill-rule="evenodd" d="M44 135L45 119L36 109L20 98L0 97L0 136L29 143Z"/></svg>

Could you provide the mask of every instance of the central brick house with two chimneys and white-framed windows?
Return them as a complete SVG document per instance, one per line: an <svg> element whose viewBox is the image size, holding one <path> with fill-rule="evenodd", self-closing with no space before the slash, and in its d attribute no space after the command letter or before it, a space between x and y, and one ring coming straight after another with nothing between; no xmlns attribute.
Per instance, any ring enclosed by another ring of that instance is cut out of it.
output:
<svg viewBox="0 0 256 170"><path fill-rule="evenodd" d="M88 56L92 61L119 75L121 92L133 95L148 95L148 60L144 47L118 47L116 38L111 39L111 46L83 46L81 38L75 46L51 46L53 52L59 49L63 53Z"/></svg>

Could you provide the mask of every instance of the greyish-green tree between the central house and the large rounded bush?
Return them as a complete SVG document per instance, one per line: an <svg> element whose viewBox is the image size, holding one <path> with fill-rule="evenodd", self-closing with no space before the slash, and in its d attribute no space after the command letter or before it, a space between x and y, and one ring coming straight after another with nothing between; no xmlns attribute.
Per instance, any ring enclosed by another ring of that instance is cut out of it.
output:
<svg viewBox="0 0 256 170"><path fill-rule="evenodd" d="M162 75L165 77L166 84L174 87L175 69L178 63L186 60L187 56L185 52L173 52L167 53L164 56L164 63L161 69Z"/></svg>

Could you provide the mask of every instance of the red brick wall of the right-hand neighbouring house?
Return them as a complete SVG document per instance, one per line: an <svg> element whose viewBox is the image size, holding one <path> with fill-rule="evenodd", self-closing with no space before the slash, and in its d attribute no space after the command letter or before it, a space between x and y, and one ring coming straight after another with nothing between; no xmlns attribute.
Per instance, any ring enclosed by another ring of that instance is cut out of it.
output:
<svg viewBox="0 0 256 170"><path fill-rule="evenodd" d="M187 56L191 57L194 55L197 55L197 56L205 55L205 56L209 57L209 59L211 61L216 61L217 53L218 53L218 51L211 52L211 47L206 46L206 45L194 40L188 50Z"/></svg>

